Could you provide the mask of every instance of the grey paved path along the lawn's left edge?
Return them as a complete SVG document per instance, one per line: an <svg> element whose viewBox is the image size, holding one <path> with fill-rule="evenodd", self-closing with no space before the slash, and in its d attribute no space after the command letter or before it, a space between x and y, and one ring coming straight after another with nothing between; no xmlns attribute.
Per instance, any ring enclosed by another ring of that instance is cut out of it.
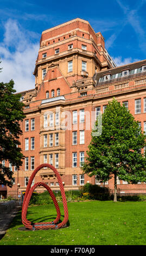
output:
<svg viewBox="0 0 146 256"><path fill-rule="evenodd" d="M21 205L16 203L15 207L10 212L3 212L0 214L0 240L5 235L10 223L16 216L17 212L21 209Z"/></svg>

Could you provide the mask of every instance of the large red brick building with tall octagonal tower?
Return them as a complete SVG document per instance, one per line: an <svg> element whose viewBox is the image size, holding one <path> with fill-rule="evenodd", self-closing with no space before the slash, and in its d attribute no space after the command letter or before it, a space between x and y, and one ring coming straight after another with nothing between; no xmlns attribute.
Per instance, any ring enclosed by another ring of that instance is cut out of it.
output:
<svg viewBox="0 0 146 256"><path fill-rule="evenodd" d="M34 70L35 88L22 92L26 119L21 124L20 141L25 160L20 170L10 166L14 186L8 188L8 195L26 191L31 173L41 163L58 169L65 190L78 190L86 182L95 184L95 177L83 175L80 168L94 121L114 96L146 130L145 71L146 60L116 67L103 35L95 33L85 20L74 19L43 31ZM59 190L49 168L41 169L34 183L42 180ZM146 192L146 184L117 182L120 193ZM113 180L105 186L113 190Z"/></svg>

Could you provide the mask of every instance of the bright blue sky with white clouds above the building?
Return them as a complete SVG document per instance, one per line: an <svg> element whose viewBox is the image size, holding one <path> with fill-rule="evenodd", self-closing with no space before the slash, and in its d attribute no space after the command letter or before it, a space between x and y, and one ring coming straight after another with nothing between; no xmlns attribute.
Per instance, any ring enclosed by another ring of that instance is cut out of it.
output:
<svg viewBox="0 0 146 256"><path fill-rule="evenodd" d="M33 71L42 31L80 17L105 38L116 64L146 59L146 0L0 0L0 82L17 92L35 86Z"/></svg>

